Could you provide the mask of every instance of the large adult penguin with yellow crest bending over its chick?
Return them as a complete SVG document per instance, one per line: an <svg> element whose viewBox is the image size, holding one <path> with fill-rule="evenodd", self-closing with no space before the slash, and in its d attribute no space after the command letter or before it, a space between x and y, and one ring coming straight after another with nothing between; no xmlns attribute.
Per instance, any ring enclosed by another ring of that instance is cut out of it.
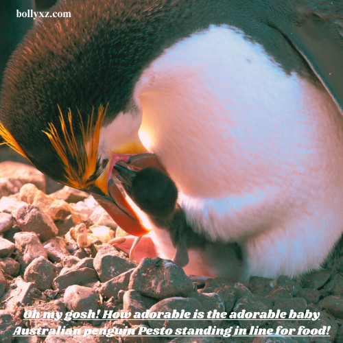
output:
<svg viewBox="0 0 343 343"><path fill-rule="evenodd" d="M146 230L112 170L148 150L191 232L238 242L242 278L320 266L343 228L341 1L74 0L52 11L71 16L40 19L8 63L8 144L106 197L135 235ZM171 257L168 231L154 235Z"/></svg>

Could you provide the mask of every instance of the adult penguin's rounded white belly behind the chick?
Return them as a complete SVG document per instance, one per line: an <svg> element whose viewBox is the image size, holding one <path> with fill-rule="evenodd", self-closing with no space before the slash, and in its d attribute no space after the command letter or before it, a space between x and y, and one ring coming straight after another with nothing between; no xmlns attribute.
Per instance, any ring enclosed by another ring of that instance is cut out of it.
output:
<svg viewBox="0 0 343 343"><path fill-rule="evenodd" d="M212 26L167 49L134 96L187 222L239 242L241 279L320 267L342 235L343 120L314 75L287 74L239 30Z"/></svg>

